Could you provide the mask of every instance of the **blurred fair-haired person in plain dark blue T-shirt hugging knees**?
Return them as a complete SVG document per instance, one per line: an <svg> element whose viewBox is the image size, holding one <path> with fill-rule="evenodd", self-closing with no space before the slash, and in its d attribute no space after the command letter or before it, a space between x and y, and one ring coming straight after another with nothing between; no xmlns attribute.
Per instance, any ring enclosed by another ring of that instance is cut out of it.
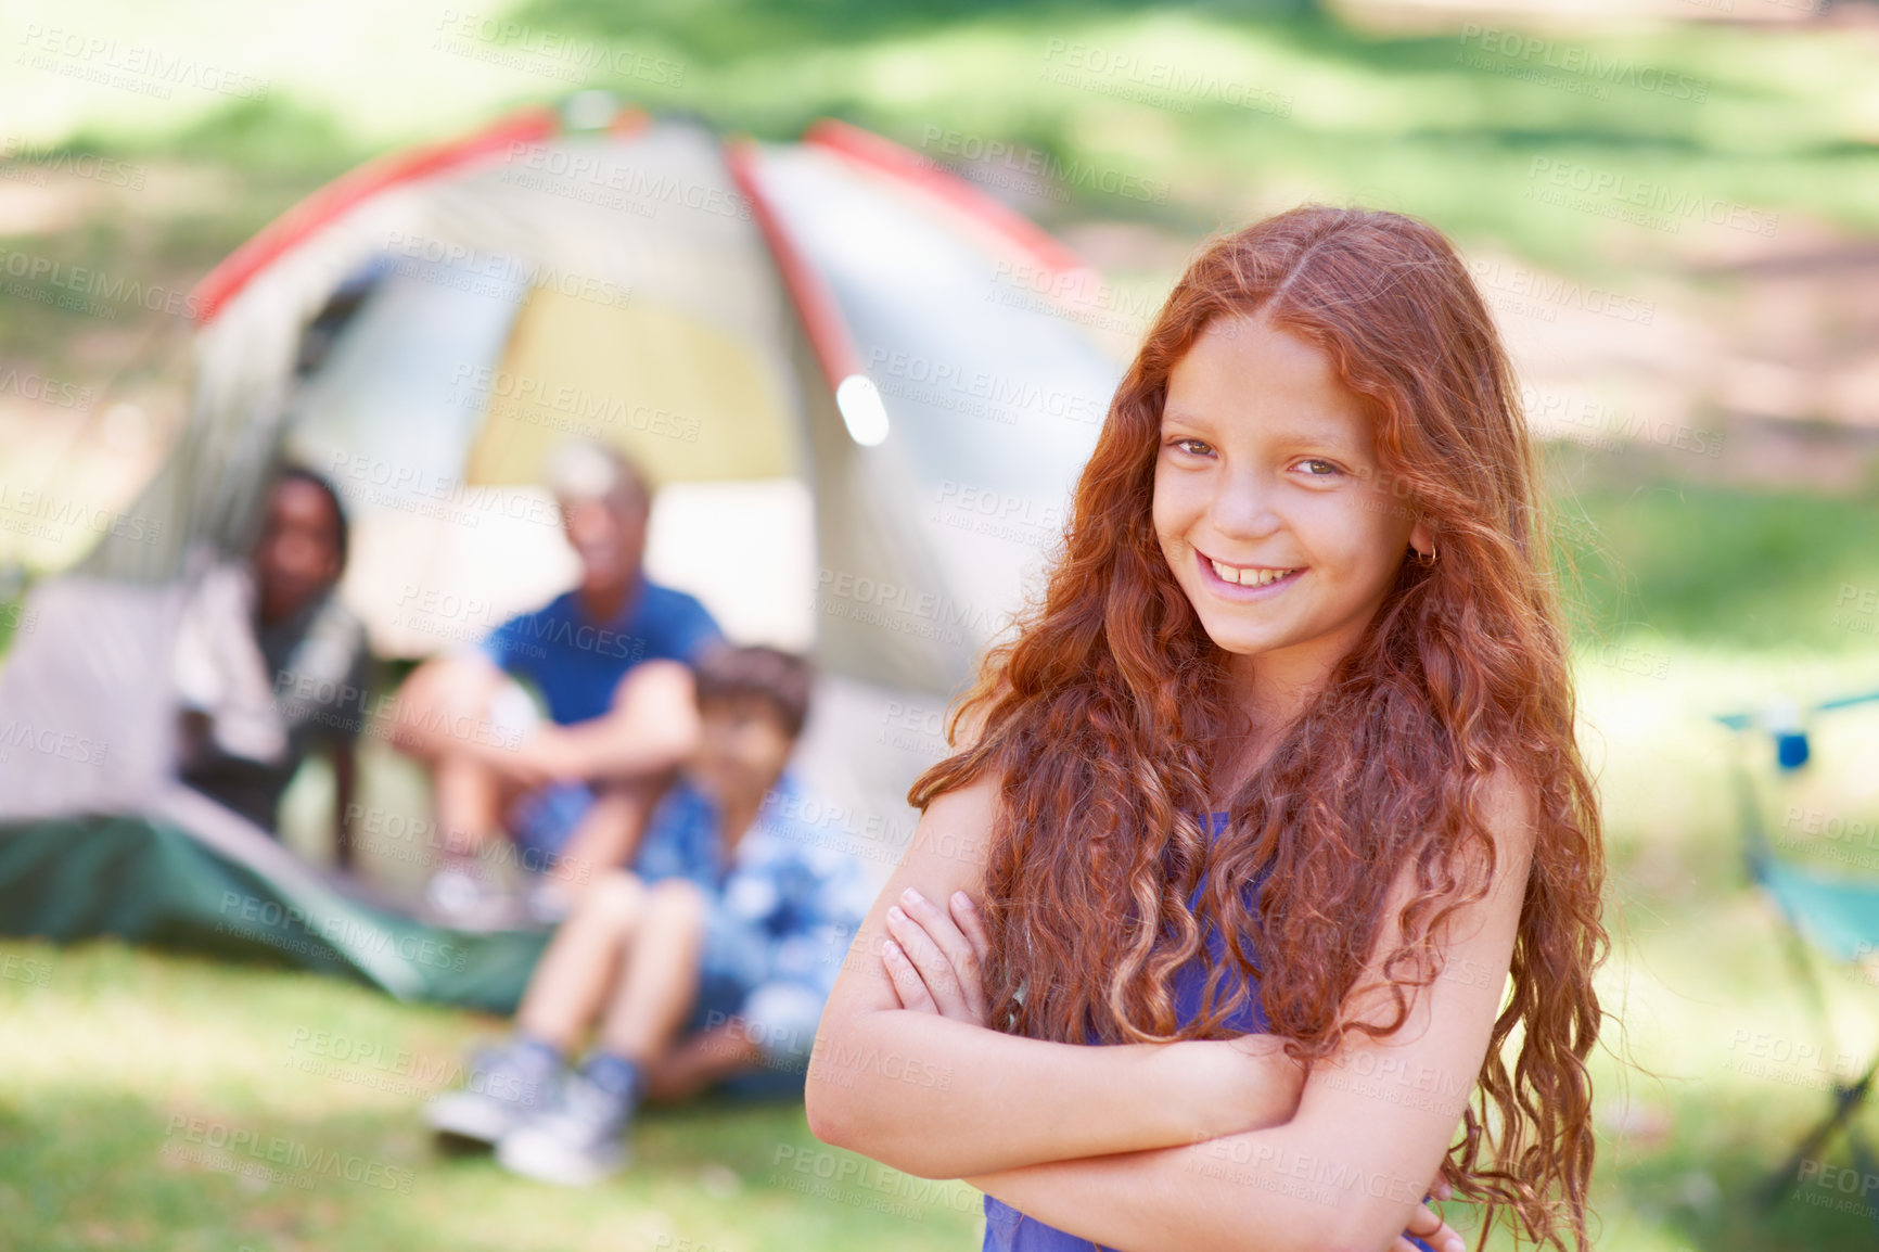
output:
<svg viewBox="0 0 1879 1252"><path fill-rule="evenodd" d="M421 665L400 688L393 743L432 767L453 865L430 904L458 925L489 897L472 855L515 840L522 867L581 884L624 865L699 726L691 665L723 632L693 596L646 579L650 489L616 449L577 440L551 457L581 583ZM513 679L534 686L547 720ZM566 872L575 869L579 872Z"/></svg>

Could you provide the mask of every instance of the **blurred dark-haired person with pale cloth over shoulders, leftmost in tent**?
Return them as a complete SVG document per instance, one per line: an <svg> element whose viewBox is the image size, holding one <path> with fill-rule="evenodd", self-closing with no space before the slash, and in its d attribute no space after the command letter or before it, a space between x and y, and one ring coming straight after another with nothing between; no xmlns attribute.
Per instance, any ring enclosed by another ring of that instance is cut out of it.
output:
<svg viewBox="0 0 1879 1252"><path fill-rule="evenodd" d="M327 750L342 867L370 665L365 626L333 590L346 541L333 483L284 470L250 558L210 568L192 590L175 652L182 782L274 833L287 782L316 746Z"/></svg>

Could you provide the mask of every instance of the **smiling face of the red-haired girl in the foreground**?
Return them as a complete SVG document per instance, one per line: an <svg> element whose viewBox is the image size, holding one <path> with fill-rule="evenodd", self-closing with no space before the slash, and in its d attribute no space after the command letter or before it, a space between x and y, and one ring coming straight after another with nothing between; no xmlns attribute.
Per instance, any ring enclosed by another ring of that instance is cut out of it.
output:
<svg viewBox="0 0 1879 1252"><path fill-rule="evenodd" d="M1201 333L1167 382L1154 524L1214 643L1300 682L1355 647L1407 549L1430 551L1377 468L1325 352L1265 318Z"/></svg>

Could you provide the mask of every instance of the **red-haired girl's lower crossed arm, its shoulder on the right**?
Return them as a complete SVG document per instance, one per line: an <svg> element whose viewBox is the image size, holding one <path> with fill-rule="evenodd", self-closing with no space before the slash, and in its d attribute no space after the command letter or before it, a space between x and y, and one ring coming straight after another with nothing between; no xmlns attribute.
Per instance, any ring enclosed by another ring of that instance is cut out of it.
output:
<svg viewBox="0 0 1879 1252"><path fill-rule="evenodd" d="M1421 1216L1422 1181L1436 1175L1454 1137L1501 1008L1533 850L1530 803L1522 786L1494 778L1488 897L1454 914L1445 968L1417 993L1405 1025L1383 1040L1345 1036L1306 1081L1291 1120L1208 1143L966 1181L1073 1235L1131 1252L1400 1246L1398 1231ZM1398 942L1394 919L1411 882L1405 869L1385 910L1379 953ZM1377 974L1375 957L1368 974Z"/></svg>

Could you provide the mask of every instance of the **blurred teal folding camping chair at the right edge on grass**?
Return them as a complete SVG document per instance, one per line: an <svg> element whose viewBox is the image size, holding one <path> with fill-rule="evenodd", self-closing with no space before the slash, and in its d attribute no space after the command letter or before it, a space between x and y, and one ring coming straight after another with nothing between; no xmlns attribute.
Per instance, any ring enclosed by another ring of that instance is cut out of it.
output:
<svg viewBox="0 0 1879 1252"><path fill-rule="evenodd" d="M1815 705L1809 712L1830 712L1879 701L1879 692L1843 696ZM1776 769L1781 776L1798 773L1808 765L1811 748L1802 712L1793 705L1772 707L1763 712L1731 712L1716 718L1732 731L1763 731L1772 737L1776 750ZM1802 987L1821 1019L1823 1038L1832 1047L1832 1017L1826 1011L1826 993L1815 970L1815 957L1836 962L1856 962L1868 953L1879 951L1879 880L1845 878L1823 872L1809 865L1796 865L1776 855L1763 822L1763 808L1755 791L1755 780L1747 769L1746 754L1731 758L1736 805L1742 822L1744 857L1749 880L1766 893L1787 923L1787 951L1798 972ZM1838 1055L1838 1051L1836 1051ZM1866 1068L1855 1083L1834 1079L1832 1107L1826 1117L1794 1145L1787 1162L1772 1173L1761 1188L1757 1199L1763 1209L1772 1209L1787 1196L1789 1184L1798 1177L1806 1160L1817 1160L1834 1132L1845 1130L1853 1149L1853 1160L1862 1175L1879 1175L1879 1158L1873 1156L1866 1135L1853 1122L1864 1107L1866 1098L1879 1081L1879 1056ZM1879 1211L1868 1211L1879 1226Z"/></svg>

